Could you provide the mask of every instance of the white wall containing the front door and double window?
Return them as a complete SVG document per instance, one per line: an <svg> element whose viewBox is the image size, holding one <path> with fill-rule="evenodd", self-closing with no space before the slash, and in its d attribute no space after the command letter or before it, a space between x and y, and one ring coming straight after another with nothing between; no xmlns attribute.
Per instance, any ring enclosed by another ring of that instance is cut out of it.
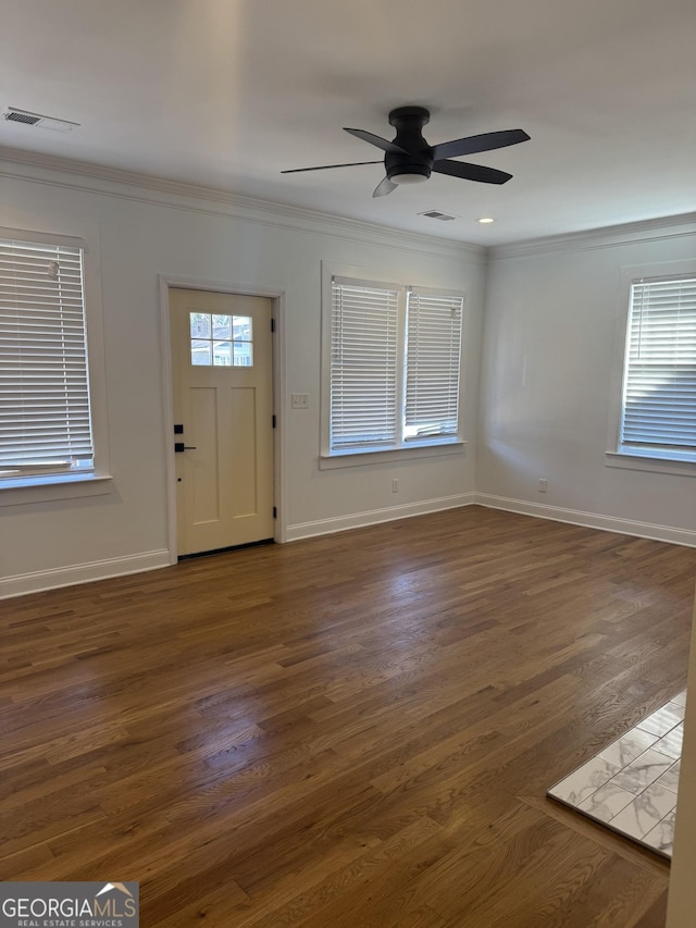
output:
<svg viewBox="0 0 696 928"><path fill-rule="evenodd" d="M47 168L0 164L0 225L83 237L98 261L105 345L111 492L83 499L2 505L0 596L166 565L163 335L158 275L284 294L279 500L288 539L473 498L483 312L483 250L343 220L135 186ZM322 470L320 297L322 261L365 275L467 292L465 409L470 444L437 459ZM290 410L290 393L309 410ZM172 440L173 441L173 440ZM391 479L399 479L398 496Z"/></svg>

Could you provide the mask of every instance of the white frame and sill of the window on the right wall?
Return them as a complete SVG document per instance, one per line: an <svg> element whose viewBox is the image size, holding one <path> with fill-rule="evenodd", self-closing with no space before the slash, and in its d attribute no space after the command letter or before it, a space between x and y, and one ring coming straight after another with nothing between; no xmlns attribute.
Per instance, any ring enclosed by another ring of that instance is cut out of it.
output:
<svg viewBox="0 0 696 928"><path fill-rule="evenodd" d="M621 269L609 428L605 453L607 467L696 477L696 450L691 453L668 446L623 445L621 442L624 384L629 366L632 287L641 282L678 281L688 276L696 276L696 261L664 261Z"/></svg>

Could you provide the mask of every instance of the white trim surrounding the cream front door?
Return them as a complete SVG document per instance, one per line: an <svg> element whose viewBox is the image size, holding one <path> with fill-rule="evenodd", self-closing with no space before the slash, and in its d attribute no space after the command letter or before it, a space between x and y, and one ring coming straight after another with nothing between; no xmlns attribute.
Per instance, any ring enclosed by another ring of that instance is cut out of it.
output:
<svg viewBox="0 0 696 928"><path fill-rule="evenodd" d="M198 280L192 277L174 277L169 274L158 274L160 299L160 345L162 364L162 421L164 423L164 461L166 484L166 522L167 550L170 564L177 561L176 542L176 475L174 461L174 392L172 384L172 337L170 332L170 287L190 290L212 290L213 293L240 294L243 296L261 296L273 300L273 318L275 320L275 336L273 342L273 409L275 429L273 433L273 502L276 507L275 530L273 537L276 542L287 541L285 517L285 438L284 422L285 407L283 397L285 391L285 292L274 287L258 287L235 284L231 281Z"/></svg>

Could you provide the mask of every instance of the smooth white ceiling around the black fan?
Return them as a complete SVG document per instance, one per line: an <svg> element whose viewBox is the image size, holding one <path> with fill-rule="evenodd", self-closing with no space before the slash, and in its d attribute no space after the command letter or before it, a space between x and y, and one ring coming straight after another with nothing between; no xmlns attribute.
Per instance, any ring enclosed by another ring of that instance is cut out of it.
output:
<svg viewBox="0 0 696 928"><path fill-rule="evenodd" d="M500 244L696 210L695 0L3 0L2 148L78 159L462 242ZM372 198L378 159L431 110L431 145L506 128L470 160ZM16 151L14 152L16 154ZM455 222L425 219L436 209ZM476 219L493 215L493 225Z"/></svg>

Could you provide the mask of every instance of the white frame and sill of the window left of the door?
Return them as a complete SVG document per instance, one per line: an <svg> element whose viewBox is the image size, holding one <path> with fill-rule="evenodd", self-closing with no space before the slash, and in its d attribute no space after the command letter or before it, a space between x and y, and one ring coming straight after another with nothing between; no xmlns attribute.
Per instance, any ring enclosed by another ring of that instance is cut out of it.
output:
<svg viewBox="0 0 696 928"><path fill-rule="evenodd" d="M111 492L101 283L96 259L99 252L98 231L96 227L89 227L85 232L85 237L78 237L0 226L0 238L47 246L59 245L82 251L87 378L94 446L94 467L90 470L57 470L0 478L0 507L99 496Z"/></svg>

